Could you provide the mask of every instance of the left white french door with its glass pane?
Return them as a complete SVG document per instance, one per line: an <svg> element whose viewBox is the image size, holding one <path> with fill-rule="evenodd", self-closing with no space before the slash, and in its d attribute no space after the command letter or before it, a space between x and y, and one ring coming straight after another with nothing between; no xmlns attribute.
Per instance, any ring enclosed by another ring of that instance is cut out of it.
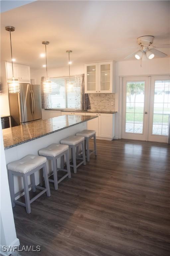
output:
<svg viewBox="0 0 170 256"><path fill-rule="evenodd" d="M123 81L122 138L146 140L148 77L125 77Z"/></svg>

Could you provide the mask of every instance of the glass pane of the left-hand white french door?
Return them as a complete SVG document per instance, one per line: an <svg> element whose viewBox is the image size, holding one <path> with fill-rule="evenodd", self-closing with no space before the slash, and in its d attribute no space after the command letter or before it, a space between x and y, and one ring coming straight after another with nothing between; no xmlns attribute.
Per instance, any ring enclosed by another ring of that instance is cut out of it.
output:
<svg viewBox="0 0 170 256"><path fill-rule="evenodd" d="M125 132L143 133L144 87L144 81L127 82Z"/></svg>

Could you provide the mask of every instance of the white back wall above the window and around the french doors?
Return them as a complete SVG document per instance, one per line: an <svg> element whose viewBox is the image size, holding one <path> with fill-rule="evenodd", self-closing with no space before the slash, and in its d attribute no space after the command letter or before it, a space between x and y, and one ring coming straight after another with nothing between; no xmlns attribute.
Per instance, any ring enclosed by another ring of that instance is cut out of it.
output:
<svg viewBox="0 0 170 256"><path fill-rule="evenodd" d="M84 65L71 66L71 75L83 74ZM142 62L129 60L116 62L116 94L115 94L115 110L119 112L119 77L135 76L135 75L160 75L170 73L170 58L155 58ZM68 67L55 68L48 70L49 77L67 76ZM40 84L41 77L45 76L45 69L31 70L31 79L35 79L35 83ZM60 111L42 110L42 118L46 119L60 115ZM116 115L116 132L115 137L118 138L118 114Z"/></svg>

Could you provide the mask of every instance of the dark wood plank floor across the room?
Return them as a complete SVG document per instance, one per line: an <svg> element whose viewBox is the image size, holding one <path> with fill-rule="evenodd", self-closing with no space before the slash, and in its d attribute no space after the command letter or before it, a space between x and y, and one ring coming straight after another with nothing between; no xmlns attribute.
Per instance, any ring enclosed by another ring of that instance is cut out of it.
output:
<svg viewBox="0 0 170 256"><path fill-rule="evenodd" d="M30 215L13 209L21 245L41 245L22 255L170 255L170 145L122 139L97 148Z"/></svg>

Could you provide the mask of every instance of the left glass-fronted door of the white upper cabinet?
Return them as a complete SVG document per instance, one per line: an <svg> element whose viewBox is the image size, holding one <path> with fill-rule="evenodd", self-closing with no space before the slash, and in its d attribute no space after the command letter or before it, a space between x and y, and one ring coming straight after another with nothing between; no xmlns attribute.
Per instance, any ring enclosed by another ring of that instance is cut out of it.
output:
<svg viewBox="0 0 170 256"><path fill-rule="evenodd" d="M98 93L98 63L85 64L85 93Z"/></svg>

